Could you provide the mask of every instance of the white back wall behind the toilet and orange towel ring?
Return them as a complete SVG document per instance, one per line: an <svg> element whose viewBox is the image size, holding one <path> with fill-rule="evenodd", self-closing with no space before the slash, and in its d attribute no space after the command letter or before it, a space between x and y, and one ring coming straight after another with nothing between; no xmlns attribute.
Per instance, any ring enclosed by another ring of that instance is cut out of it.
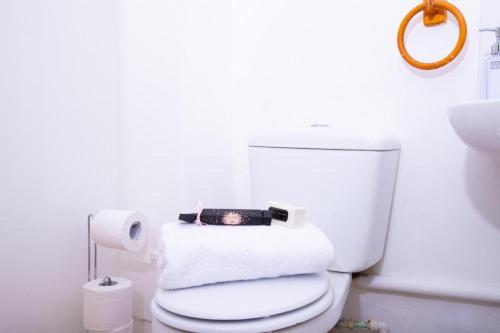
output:
<svg viewBox="0 0 500 333"><path fill-rule="evenodd" d="M469 152L446 115L448 105L479 95L481 3L454 3L467 17L468 43L458 61L423 73L396 47L408 2L127 1L123 52L133 60L123 67L126 146L150 149L126 155L128 204L153 212L156 226L198 197L249 206L246 141L254 129L313 122L387 128L401 139L401 164L385 258L370 273L497 290L500 265L491 259L500 253L500 167ZM453 20L432 29L414 24L408 48L431 60L456 36ZM170 162L155 155L166 151L174 152ZM151 181L133 180L141 177ZM142 279L127 272L139 268L122 270ZM144 317L155 287L146 284L138 284L148 296L136 312ZM482 331L493 332L500 315L498 305L389 297L356 290L346 312L380 317L395 332L471 331L449 309L463 321L484 319ZM409 315L422 307L436 316L430 324ZM439 315L446 326L434 326Z"/></svg>

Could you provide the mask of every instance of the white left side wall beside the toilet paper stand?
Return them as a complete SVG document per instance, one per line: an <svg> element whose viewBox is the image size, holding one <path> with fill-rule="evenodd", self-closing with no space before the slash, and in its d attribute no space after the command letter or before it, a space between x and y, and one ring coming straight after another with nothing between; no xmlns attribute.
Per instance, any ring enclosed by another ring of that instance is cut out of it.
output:
<svg viewBox="0 0 500 333"><path fill-rule="evenodd" d="M117 18L0 2L1 332L83 332L87 214L119 199Z"/></svg>

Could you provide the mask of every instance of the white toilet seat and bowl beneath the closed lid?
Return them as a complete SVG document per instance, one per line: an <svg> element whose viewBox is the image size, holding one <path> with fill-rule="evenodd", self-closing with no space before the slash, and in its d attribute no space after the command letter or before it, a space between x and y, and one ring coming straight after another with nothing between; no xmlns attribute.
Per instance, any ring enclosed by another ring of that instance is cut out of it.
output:
<svg viewBox="0 0 500 333"><path fill-rule="evenodd" d="M206 320L187 317L163 309L157 304L156 299L153 299L151 302L154 316L153 333L179 332L178 330L203 333L257 333L303 325L308 326L308 329L311 325L314 326L316 332L327 332L340 318L351 284L351 276L347 273L326 274L329 275L329 287L315 301L291 311L255 319ZM241 281L241 290L244 289L243 284L248 282ZM320 319L315 320L316 317ZM317 329L319 327L321 329ZM301 329L298 328L296 331L301 332Z"/></svg>

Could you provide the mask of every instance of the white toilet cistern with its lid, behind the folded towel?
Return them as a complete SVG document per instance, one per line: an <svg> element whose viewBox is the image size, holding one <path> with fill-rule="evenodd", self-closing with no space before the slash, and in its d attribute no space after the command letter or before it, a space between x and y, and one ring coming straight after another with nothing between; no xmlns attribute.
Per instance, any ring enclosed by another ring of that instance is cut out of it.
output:
<svg viewBox="0 0 500 333"><path fill-rule="evenodd" d="M399 160L390 135L330 128L268 130L249 140L252 205L307 209L335 249L331 270L359 272L383 255Z"/></svg>

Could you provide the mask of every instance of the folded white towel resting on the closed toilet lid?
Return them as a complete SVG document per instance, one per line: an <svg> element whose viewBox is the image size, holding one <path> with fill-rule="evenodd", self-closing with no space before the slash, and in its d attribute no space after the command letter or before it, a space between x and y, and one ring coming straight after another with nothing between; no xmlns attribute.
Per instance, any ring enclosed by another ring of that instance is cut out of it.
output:
<svg viewBox="0 0 500 333"><path fill-rule="evenodd" d="M332 260L330 241L310 223L289 229L175 222L162 227L158 268L160 287L177 289L318 273Z"/></svg>

